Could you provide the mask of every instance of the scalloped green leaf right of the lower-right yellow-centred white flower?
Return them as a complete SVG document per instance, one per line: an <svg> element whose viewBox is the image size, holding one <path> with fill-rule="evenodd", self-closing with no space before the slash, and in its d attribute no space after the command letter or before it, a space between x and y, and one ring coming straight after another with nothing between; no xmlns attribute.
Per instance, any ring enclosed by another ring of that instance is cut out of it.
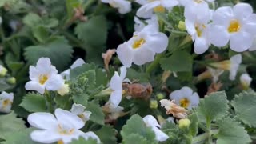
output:
<svg viewBox="0 0 256 144"><path fill-rule="evenodd" d="M224 91L221 91L201 99L197 111L201 121L211 122L223 118L228 109L226 94Z"/></svg>

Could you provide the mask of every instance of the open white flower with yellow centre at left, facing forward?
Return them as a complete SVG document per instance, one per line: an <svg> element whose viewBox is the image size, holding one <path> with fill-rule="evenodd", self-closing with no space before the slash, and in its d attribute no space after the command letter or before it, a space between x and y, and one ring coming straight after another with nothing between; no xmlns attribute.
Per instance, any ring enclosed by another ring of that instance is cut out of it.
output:
<svg viewBox="0 0 256 144"><path fill-rule="evenodd" d="M59 90L64 85L64 79L57 74L50 58L39 58L37 66L30 66L30 80L26 82L26 90L36 90L43 94L46 90Z"/></svg>

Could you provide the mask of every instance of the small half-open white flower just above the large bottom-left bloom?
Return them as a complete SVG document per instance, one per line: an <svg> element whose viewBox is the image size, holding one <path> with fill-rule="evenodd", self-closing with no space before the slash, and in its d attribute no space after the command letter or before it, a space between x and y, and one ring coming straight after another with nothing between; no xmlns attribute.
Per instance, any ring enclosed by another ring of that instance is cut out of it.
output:
<svg viewBox="0 0 256 144"><path fill-rule="evenodd" d="M82 119L83 122L86 122L90 119L90 111L85 110L86 107L82 106L81 104L74 103L71 108L71 113L77 115L79 118Z"/></svg>

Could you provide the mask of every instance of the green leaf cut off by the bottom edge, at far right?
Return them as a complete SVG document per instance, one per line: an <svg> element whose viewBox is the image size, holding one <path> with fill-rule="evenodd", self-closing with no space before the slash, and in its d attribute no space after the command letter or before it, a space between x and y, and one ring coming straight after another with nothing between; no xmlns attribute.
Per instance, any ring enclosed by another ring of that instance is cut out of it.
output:
<svg viewBox="0 0 256 144"><path fill-rule="evenodd" d="M250 136L239 122L225 118L218 122L217 144L250 143Z"/></svg>

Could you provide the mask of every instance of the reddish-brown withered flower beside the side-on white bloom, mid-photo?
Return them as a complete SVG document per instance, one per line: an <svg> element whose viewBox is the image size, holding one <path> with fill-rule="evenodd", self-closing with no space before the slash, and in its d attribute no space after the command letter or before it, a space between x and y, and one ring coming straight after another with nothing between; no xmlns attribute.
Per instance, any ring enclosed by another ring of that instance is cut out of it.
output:
<svg viewBox="0 0 256 144"><path fill-rule="evenodd" d="M131 96L133 98L148 99L153 92L150 83L122 83L122 88L125 91L126 96Z"/></svg>

